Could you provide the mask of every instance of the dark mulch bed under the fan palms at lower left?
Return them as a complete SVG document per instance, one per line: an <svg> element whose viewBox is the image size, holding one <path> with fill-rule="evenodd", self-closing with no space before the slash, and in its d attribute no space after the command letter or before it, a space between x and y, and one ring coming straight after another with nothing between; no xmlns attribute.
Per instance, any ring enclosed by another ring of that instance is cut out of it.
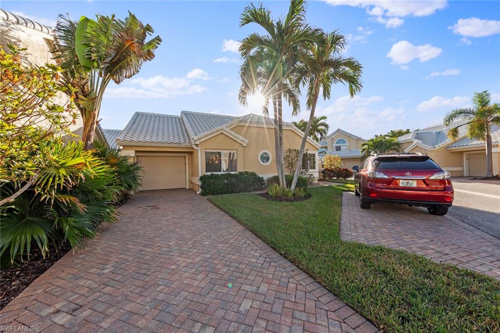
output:
<svg viewBox="0 0 500 333"><path fill-rule="evenodd" d="M0 309L69 250L71 250L71 245L66 241L57 251L53 246L49 247L48 254L43 258L38 246L33 245L29 261L20 262L18 265L0 270Z"/></svg>

